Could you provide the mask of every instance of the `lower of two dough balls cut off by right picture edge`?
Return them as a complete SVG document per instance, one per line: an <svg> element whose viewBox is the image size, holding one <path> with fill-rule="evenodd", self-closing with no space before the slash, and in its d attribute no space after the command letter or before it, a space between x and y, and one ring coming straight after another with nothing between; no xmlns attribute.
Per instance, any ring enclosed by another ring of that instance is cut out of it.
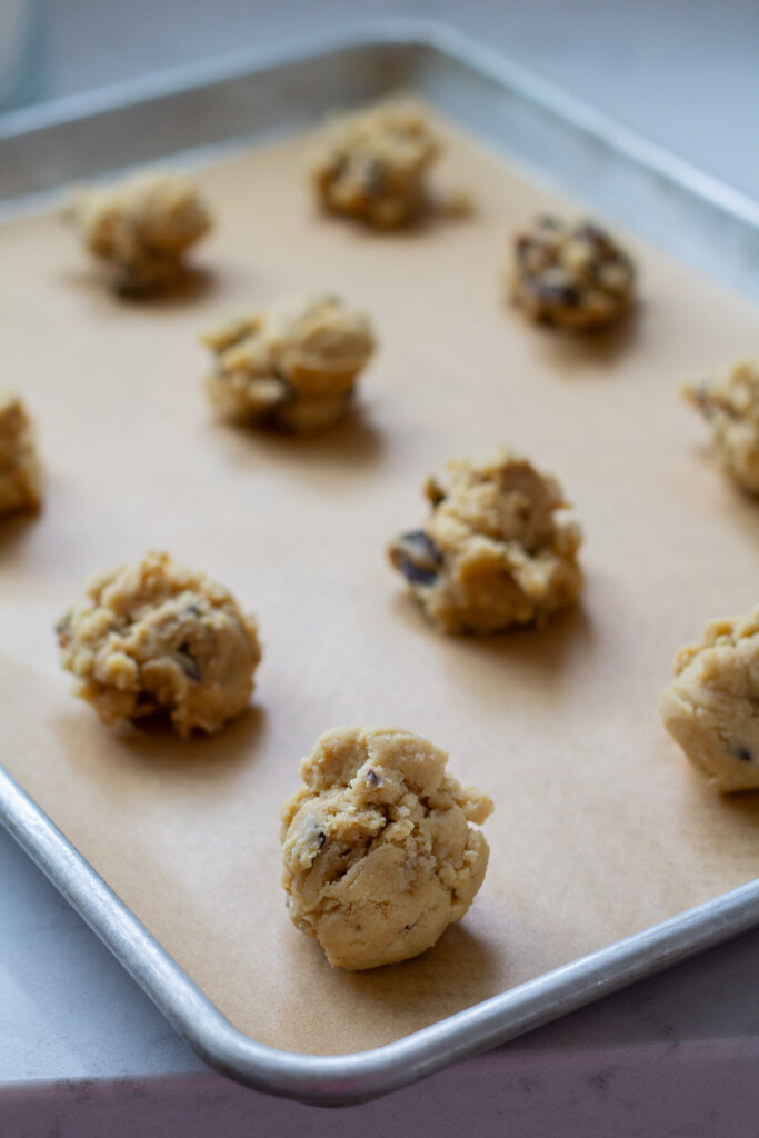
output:
<svg viewBox="0 0 759 1138"><path fill-rule="evenodd" d="M758 707L759 605L682 648L660 703L667 731L723 794L759 790Z"/></svg>

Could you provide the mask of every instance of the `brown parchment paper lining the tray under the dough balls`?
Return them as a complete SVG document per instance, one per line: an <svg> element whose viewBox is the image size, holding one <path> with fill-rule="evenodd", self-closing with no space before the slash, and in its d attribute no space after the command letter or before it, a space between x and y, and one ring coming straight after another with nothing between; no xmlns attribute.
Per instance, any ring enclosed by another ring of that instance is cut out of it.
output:
<svg viewBox="0 0 759 1138"><path fill-rule="evenodd" d="M3 381L48 471L43 512L0 526L2 761L234 1024L308 1053L397 1038L759 874L759 795L715 797L657 707L676 648L759 599L759 505L677 396L756 353L759 315L630 241L627 328L533 329L503 303L504 249L556 201L448 137L439 183L477 213L413 233L320 216L302 138L205 172L217 228L158 303L107 295L53 217L0 232ZM381 341L360 417L307 442L215 422L198 332L323 288L365 305ZM383 547L423 517L429 471L501 440L575 503L583 603L544 629L445 638ZM149 547L258 613L255 700L217 737L110 731L58 668L51 626L84 579ZM278 830L300 757L357 723L445 747L496 810L465 920L415 960L349 974L286 915Z"/></svg>

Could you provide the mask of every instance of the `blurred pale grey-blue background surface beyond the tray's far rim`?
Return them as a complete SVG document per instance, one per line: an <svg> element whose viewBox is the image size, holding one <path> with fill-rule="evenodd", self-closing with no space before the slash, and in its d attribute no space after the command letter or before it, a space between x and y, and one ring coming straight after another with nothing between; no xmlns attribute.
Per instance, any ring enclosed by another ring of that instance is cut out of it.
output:
<svg viewBox="0 0 759 1138"><path fill-rule="evenodd" d="M759 0L47 0L38 97L389 15L452 24L759 198Z"/></svg>

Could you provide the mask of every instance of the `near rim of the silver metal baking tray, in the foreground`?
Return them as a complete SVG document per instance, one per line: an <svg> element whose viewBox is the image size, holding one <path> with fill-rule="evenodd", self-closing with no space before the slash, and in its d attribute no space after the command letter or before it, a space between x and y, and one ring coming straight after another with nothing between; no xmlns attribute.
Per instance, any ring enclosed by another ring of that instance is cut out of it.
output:
<svg viewBox="0 0 759 1138"><path fill-rule="evenodd" d="M245 1086L320 1106L398 1090L759 925L757 879L390 1044L304 1055L239 1031L1 765L0 824L200 1058Z"/></svg>

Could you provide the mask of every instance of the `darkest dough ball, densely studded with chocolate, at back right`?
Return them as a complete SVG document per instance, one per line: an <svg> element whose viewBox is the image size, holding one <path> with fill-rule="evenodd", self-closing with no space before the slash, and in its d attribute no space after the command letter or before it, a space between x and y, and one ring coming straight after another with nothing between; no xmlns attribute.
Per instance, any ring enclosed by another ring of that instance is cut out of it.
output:
<svg viewBox="0 0 759 1138"><path fill-rule="evenodd" d="M628 255L589 222L538 217L514 237L511 299L537 323L578 332L612 324L632 307L634 286Z"/></svg>

